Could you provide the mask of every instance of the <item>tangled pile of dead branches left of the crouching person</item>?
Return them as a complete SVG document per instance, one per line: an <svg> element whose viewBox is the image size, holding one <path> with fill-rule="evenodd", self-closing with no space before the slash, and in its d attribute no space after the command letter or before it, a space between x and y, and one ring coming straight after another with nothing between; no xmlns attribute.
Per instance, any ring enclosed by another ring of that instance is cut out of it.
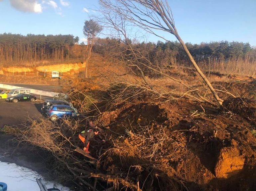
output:
<svg viewBox="0 0 256 191"><path fill-rule="evenodd" d="M80 131L79 121L64 119L57 124L39 118L29 119L18 136L19 140L48 150L54 156L51 166L55 168L57 180L63 183L72 181L80 190L88 187L95 190L94 179L91 178L91 173L96 172L95 161L75 152L76 145L80 146Z"/></svg>

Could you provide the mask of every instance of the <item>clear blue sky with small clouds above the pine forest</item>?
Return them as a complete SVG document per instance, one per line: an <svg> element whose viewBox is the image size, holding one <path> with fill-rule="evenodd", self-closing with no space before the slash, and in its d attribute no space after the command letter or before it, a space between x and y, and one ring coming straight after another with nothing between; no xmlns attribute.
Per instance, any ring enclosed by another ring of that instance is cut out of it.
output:
<svg viewBox="0 0 256 191"><path fill-rule="evenodd" d="M168 0L168 3L185 42L227 40L249 42L256 47L256 0ZM85 40L84 21L97 15L98 8L97 0L0 0L0 33L72 34ZM160 34L176 40L172 34ZM146 34L147 42L158 40L162 39Z"/></svg>

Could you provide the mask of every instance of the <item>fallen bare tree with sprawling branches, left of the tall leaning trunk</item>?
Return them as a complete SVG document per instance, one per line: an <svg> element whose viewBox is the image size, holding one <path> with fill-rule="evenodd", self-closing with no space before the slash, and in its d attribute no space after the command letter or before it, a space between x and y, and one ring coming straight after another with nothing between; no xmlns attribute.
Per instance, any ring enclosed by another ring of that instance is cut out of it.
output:
<svg viewBox="0 0 256 191"><path fill-rule="evenodd" d="M172 66L168 61L161 62L161 64L156 64L150 58L150 53L147 50L147 47L138 48L136 45L136 39L131 40L129 38L129 23L121 18L116 12L109 12L107 9L102 9L103 13L100 18L100 22L102 25L111 30L111 36L114 38L119 38L120 43L118 46L118 51L113 52L110 56L111 61L116 58L116 63L123 63L127 67L127 71L125 74L129 74L133 76L133 78L129 77L121 77L116 76L116 80L111 82L113 84L119 86L124 91L119 92L119 94L114 95L116 100L119 98L127 101L127 95L129 98L133 96L138 96L139 92L147 91L151 92L158 97L162 98L171 98L171 99L180 99L181 97L188 97L192 100L197 100L200 102L209 102L210 99L207 99L205 96L201 96L199 91L205 91L207 89L199 89L195 85L193 86L191 83L186 82L186 77L181 73L179 74L179 78L172 76ZM182 86L184 88L179 88L179 91L166 88L166 85L159 83L159 80L155 80L154 77L158 78L158 76L162 76L162 80L165 80L164 84L175 84L176 86ZM196 83L197 84L197 83ZM126 90L137 90L137 92L132 91L133 95L130 93L124 93ZM184 91L185 90L185 91ZM115 92L116 93L116 92ZM193 93L193 94L192 94ZM124 97L126 98L124 98ZM208 97L208 96L207 96Z"/></svg>

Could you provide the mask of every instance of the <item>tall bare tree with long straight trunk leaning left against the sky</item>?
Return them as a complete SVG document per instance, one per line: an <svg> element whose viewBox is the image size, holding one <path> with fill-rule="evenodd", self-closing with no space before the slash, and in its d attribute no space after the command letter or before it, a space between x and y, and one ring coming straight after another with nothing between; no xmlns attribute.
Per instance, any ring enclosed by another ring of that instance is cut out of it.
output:
<svg viewBox="0 0 256 191"><path fill-rule="evenodd" d="M147 32L163 38L164 40L167 39L160 36L157 33L158 30L175 35L189 56L196 71L207 84L219 105L222 105L223 100L218 97L218 94L212 87L209 80L197 66L188 48L178 34L175 27L172 10L166 0L99 0L99 3L102 7L101 10L105 10L105 13L107 11L109 13L117 13L121 16L122 20L131 22Z"/></svg>

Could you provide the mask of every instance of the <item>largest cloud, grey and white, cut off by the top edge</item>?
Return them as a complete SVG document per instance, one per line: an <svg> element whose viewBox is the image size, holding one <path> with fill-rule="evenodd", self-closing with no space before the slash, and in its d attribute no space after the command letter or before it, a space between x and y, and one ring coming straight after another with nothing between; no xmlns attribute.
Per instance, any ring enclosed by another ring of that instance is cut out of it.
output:
<svg viewBox="0 0 256 191"><path fill-rule="evenodd" d="M10 0L12 7L19 11L42 13L42 6L37 0Z"/></svg>

